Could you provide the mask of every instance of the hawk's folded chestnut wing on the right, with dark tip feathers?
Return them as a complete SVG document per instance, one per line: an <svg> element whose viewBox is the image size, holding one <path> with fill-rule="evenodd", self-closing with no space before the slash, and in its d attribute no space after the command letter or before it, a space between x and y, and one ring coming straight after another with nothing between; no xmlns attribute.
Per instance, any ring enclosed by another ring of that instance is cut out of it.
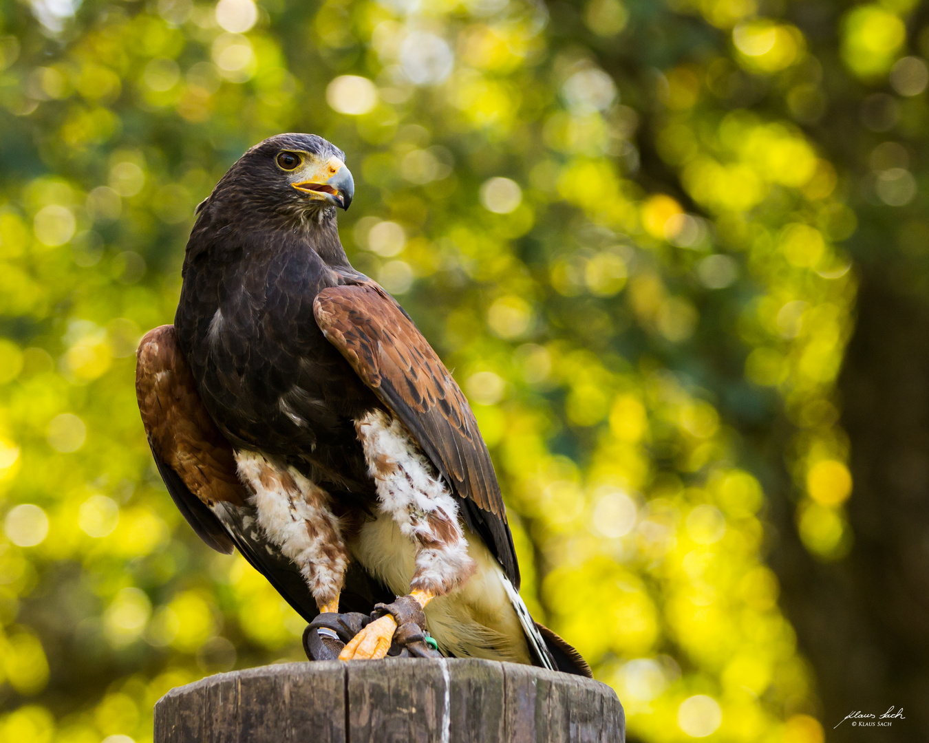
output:
<svg viewBox="0 0 929 743"><path fill-rule="evenodd" d="M519 568L500 485L478 422L451 373L393 297L373 281L330 287L313 303L326 339L406 425L513 584Z"/></svg>

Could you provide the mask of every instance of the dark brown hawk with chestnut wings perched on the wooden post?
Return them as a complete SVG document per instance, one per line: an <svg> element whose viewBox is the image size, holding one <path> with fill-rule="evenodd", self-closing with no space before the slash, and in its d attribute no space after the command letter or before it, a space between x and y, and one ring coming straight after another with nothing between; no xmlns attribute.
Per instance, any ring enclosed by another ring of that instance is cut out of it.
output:
<svg viewBox="0 0 929 743"><path fill-rule="evenodd" d="M500 487L462 391L403 308L348 263L336 207L353 193L344 152L285 134L248 150L197 207L174 325L138 349L164 483L203 541L237 547L307 621L374 610L340 658L381 658L404 632L422 641L419 629L444 655L589 675L519 598Z"/></svg>

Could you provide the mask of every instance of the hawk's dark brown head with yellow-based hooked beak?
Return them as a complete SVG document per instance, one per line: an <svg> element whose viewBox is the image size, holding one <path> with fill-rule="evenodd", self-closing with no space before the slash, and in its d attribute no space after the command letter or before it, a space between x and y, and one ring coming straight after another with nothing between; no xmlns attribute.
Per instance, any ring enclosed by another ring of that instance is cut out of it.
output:
<svg viewBox="0 0 929 743"><path fill-rule="evenodd" d="M229 168L204 204L301 222L333 206L347 209L355 181L345 160L345 152L316 135L268 137Z"/></svg>

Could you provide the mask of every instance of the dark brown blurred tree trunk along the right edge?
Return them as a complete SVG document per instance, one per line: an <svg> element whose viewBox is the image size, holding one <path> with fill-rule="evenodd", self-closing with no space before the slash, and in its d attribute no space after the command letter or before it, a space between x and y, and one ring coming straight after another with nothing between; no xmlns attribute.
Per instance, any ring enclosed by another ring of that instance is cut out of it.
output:
<svg viewBox="0 0 929 743"><path fill-rule="evenodd" d="M822 565L792 525L774 555L783 605L817 671L831 741L870 739L843 723L902 707L883 741L929 734L929 307L864 268L840 388L855 489L851 553ZM790 509L792 511L792 509ZM787 515L790 518L790 515Z"/></svg>

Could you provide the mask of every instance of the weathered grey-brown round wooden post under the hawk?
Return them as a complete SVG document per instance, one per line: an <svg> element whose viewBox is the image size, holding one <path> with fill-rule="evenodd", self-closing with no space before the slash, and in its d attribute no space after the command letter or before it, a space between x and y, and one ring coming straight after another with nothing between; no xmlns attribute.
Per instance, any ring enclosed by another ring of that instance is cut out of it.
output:
<svg viewBox="0 0 929 743"><path fill-rule="evenodd" d="M321 661L219 673L155 705L155 743L623 743L606 684L514 663Z"/></svg>

